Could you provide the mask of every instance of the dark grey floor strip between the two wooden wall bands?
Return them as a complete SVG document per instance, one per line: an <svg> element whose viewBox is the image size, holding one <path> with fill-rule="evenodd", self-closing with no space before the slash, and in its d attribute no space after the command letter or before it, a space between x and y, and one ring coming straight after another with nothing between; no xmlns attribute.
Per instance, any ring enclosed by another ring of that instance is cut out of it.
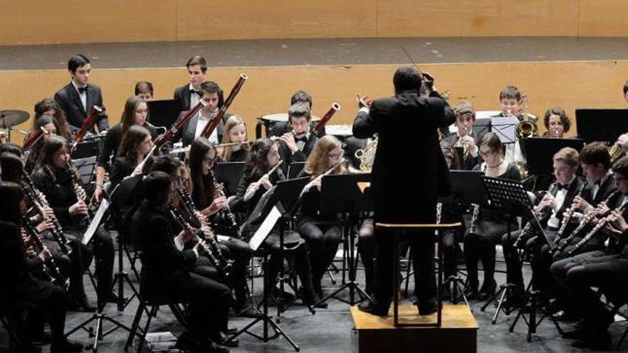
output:
<svg viewBox="0 0 628 353"><path fill-rule="evenodd" d="M628 58L628 39L569 37L273 39L0 46L1 70L65 69L86 53L98 68L171 68L201 54L210 66L308 66Z"/></svg>

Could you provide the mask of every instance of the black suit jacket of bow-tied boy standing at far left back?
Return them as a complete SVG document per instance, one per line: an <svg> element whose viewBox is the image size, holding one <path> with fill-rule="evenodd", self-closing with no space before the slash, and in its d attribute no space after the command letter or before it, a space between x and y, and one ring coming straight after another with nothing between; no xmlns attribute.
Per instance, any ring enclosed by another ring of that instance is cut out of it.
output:
<svg viewBox="0 0 628 353"><path fill-rule="evenodd" d="M83 126L83 122L89 115L93 106L98 106L103 109L98 118L96 118L96 126L98 131L105 131L109 128L109 121L107 118L107 112L103 105L103 96L101 88L88 83L87 85L87 111L83 109L81 103L81 97L78 96L78 92L74 85L70 82L64 88L54 93L54 100L64 110L68 117L68 123L74 126L76 129L80 129Z"/></svg>

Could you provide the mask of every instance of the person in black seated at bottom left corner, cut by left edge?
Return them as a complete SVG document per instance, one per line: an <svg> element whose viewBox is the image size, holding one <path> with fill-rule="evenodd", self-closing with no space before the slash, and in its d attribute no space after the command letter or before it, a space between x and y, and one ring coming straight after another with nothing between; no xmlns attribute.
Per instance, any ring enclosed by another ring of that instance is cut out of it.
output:
<svg viewBox="0 0 628 353"><path fill-rule="evenodd" d="M4 175L3 175L4 176ZM51 330L50 352L81 352L82 344L64 337L68 293L51 282L34 277L51 257L48 250L41 250L37 257L27 259L26 246L21 237L21 214L26 211L24 193L16 183L0 182L0 295L7 310L6 316L19 336L15 352L39 352L33 346L34 337L25 332L22 312L41 309L49 314ZM29 322L26 322L29 324ZM11 345L14 342L11 340Z"/></svg>

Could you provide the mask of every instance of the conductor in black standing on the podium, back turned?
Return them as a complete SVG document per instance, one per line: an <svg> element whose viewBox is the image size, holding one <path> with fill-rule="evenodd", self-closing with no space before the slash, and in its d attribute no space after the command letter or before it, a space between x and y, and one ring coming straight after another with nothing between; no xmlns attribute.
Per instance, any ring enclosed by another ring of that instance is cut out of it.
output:
<svg viewBox="0 0 628 353"><path fill-rule="evenodd" d="M432 91L429 98L420 98L421 81L422 75L417 68L401 67L393 76L395 96L367 104L358 95L360 111L353 123L353 135L370 138L378 133L379 138L371 182L375 222L434 223L437 197L450 189L437 128L452 124L454 116L445 114L445 107L449 105L437 91ZM409 150L413 152L411 158L405 153ZM407 173L407 163L421 163L423 173ZM412 200L412 208L402 206L407 200ZM393 239L386 233L384 230L375 232L378 250L375 296L358 306L362 311L381 316L388 314L393 293ZM410 235L417 268L415 292L419 313L423 315L437 310L435 240L431 235L433 231L416 231Z"/></svg>

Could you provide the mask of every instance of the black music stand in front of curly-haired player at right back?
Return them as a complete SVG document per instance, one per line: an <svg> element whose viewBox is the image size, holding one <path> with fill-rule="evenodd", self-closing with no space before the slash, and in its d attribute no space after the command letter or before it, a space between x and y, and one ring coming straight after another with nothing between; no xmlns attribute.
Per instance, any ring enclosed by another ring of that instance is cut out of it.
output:
<svg viewBox="0 0 628 353"><path fill-rule="evenodd" d="M554 173L554 154L565 147L578 152L584 147L580 138L536 138L525 139L527 169L530 174L547 175Z"/></svg>

